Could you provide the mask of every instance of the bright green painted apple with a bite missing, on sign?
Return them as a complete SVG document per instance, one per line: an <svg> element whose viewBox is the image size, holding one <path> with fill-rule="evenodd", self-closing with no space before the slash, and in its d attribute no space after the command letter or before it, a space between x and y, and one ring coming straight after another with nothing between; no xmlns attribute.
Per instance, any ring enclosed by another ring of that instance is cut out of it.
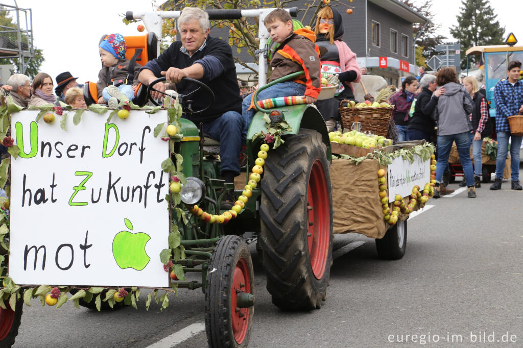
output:
<svg viewBox="0 0 523 348"><path fill-rule="evenodd" d="M124 223L131 231L133 229L129 219L124 218ZM145 245L151 237L139 232L120 231L112 240L112 256L121 269L133 268L141 271L151 260L145 252Z"/></svg>

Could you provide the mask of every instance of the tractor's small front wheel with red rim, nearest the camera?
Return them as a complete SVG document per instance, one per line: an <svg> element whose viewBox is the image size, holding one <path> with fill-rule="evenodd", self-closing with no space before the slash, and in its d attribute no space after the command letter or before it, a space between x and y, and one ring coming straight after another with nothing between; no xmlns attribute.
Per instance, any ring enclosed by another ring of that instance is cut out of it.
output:
<svg viewBox="0 0 523 348"><path fill-rule="evenodd" d="M210 347L247 347L254 316L254 270L247 243L228 235L216 243L205 287Z"/></svg>

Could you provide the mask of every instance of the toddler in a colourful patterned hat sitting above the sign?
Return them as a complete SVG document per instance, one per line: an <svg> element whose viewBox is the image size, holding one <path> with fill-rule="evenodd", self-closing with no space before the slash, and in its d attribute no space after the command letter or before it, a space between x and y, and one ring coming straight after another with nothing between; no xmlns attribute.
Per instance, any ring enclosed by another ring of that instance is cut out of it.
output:
<svg viewBox="0 0 523 348"><path fill-rule="evenodd" d="M138 87L140 65L126 60L127 45L122 34L110 34L99 44L101 62L104 65L98 73L98 103L107 103L116 109L122 95L134 99ZM131 70L131 71L129 71Z"/></svg>

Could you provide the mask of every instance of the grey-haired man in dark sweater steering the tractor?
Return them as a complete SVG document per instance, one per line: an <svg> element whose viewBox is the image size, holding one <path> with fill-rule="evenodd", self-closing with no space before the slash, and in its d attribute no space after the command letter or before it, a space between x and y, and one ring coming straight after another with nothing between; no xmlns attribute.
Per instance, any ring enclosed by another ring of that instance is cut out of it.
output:
<svg viewBox="0 0 523 348"><path fill-rule="evenodd" d="M233 182L240 174L238 157L242 147L242 98L236 77L236 67L228 43L209 35L209 15L195 7L183 9L178 19L180 41L173 42L156 59L141 68L138 79L149 86L158 77L175 83L178 93L186 95L197 86L184 77L201 80L214 92L215 100L207 110L191 115L189 119L203 124L203 133L220 142L220 175L225 182ZM165 85L157 83L156 90L164 92ZM157 99L160 93L152 92ZM208 92L198 90L192 99L192 109L202 110L209 103ZM231 209L236 201L233 190L222 201L222 209Z"/></svg>

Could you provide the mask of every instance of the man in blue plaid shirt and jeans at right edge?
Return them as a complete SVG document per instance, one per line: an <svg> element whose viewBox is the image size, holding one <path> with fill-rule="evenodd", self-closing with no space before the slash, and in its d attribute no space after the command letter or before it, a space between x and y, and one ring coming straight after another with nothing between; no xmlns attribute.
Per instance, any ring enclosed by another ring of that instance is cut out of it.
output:
<svg viewBox="0 0 523 348"><path fill-rule="evenodd" d="M507 117L523 112L523 81L518 80L521 71L521 62L508 63L506 79L500 80L494 87L494 101L496 103L496 179L491 190L501 189L503 169L508 152L508 138L510 139L510 170L512 180L511 189L523 190L519 184L519 147L523 137L511 135Z"/></svg>

